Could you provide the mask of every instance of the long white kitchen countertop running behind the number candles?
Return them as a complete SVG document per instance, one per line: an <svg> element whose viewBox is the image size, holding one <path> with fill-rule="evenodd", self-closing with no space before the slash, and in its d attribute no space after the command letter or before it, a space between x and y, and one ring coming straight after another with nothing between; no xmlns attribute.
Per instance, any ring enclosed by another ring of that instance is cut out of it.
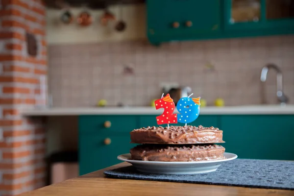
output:
<svg viewBox="0 0 294 196"><path fill-rule="evenodd" d="M25 110L24 116L74 116L74 115L160 115L163 109L153 107L77 107ZM178 113L175 110L176 113ZM294 114L294 105L247 105L200 108L201 115L242 114Z"/></svg>

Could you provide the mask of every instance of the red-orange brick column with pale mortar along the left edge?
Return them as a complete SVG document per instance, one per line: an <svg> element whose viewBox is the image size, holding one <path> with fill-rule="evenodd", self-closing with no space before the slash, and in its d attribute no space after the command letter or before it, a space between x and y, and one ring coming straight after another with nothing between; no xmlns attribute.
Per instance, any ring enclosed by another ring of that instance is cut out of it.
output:
<svg viewBox="0 0 294 196"><path fill-rule="evenodd" d="M27 33L36 38L36 56L28 54ZM42 0L0 0L0 196L45 184L45 131L21 111L46 104L46 56Z"/></svg>

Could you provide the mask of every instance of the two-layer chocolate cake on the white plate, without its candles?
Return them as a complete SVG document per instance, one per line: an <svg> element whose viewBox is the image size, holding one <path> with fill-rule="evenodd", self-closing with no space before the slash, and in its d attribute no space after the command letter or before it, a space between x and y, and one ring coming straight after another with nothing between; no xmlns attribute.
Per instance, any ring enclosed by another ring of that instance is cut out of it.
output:
<svg viewBox="0 0 294 196"><path fill-rule="evenodd" d="M203 126L148 126L130 132L131 159L143 161L208 161L225 159L222 131Z"/></svg>

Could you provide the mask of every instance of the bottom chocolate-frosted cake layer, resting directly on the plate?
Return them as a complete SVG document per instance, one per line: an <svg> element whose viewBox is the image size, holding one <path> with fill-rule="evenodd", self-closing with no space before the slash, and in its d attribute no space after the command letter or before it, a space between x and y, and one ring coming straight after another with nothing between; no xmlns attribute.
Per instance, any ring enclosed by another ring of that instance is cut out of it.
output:
<svg viewBox="0 0 294 196"><path fill-rule="evenodd" d="M139 145L130 150L131 159L142 161L209 161L225 159L220 145Z"/></svg>

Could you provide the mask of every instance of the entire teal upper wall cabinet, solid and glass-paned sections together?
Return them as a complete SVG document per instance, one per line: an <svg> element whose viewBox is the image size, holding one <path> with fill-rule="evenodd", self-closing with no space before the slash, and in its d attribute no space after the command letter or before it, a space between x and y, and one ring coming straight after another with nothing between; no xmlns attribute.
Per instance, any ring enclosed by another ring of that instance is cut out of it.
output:
<svg viewBox="0 0 294 196"><path fill-rule="evenodd" d="M294 33L294 0L147 0L150 43Z"/></svg>

